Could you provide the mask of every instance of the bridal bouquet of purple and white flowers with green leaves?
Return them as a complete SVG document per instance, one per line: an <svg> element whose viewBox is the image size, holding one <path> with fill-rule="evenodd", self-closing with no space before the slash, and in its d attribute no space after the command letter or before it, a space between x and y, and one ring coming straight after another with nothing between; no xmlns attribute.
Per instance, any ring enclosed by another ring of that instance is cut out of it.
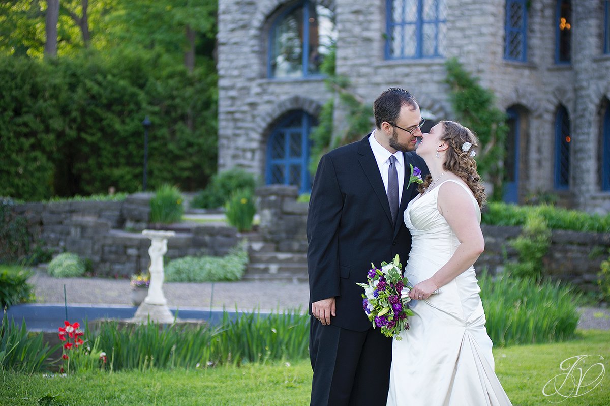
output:
<svg viewBox="0 0 610 406"><path fill-rule="evenodd" d="M409 281L401 275L402 266L398 255L391 263L381 263L381 268L371 264L368 271L367 283L356 283L364 288L362 306L367 313L368 320L373 328L381 328L381 333L386 337L395 337L403 330L409 330L407 316L414 313L407 308L411 301L409 288L405 286ZM404 289L404 291L403 291Z"/></svg>

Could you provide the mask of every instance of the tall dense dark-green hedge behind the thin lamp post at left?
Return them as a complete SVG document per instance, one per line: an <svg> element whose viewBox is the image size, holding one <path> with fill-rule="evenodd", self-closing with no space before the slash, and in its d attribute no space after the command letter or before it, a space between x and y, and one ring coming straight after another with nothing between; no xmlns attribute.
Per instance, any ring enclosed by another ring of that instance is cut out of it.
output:
<svg viewBox="0 0 610 406"><path fill-rule="evenodd" d="M23 200L202 189L216 172L213 61L192 73L158 53L83 52L48 61L0 56L0 195Z"/></svg>

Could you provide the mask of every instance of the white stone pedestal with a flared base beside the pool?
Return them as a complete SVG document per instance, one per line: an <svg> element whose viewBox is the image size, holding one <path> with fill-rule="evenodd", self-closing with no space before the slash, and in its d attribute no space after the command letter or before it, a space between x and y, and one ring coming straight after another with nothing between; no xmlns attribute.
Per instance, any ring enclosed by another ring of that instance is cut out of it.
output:
<svg viewBox="0 0 610 406"><path fill-rule="evenodd" d="M152 241L148 248L151 256L149 268L151 283L146 299L138 307L131 321L148 322L150 320L157 323L171 323L174 321L174 316L167 307L167 299L163 295L163 255L167 252L167 239L176 233L174 231L144 230L142 234Z"/></svg>

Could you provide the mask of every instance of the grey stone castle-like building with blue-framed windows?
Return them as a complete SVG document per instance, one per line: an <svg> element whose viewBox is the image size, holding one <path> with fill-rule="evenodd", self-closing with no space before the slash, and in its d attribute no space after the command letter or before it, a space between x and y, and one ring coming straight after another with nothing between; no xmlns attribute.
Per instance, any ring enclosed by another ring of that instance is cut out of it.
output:
<svg viewBox="0 0 610 406"><path fill-rule="evenodd" d="M404 87L432 122L453 118L444 63L457 57L508 114L505 200L609 212L609 3L220 0L219 170L310 188L308 135L334 96L319 66L336 42L356 95Z"/></svg>

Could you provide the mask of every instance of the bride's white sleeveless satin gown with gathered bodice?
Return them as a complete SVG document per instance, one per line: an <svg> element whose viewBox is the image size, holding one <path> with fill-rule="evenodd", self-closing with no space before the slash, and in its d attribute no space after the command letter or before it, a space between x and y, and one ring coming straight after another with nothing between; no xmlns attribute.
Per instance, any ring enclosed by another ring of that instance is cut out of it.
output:
<svg viewBox="0 0 610 406"><path fill-rule="evenodd" d="M472 197L472 192L458 183ZM437 208L439 184L411 201L404 222L413 236L405 269L415 286L436 273L459 245ZM492 341L474 267L470 267L427 300L412 300L411 329L393 341L387 405L511 405L493 372Z"/></svg>

